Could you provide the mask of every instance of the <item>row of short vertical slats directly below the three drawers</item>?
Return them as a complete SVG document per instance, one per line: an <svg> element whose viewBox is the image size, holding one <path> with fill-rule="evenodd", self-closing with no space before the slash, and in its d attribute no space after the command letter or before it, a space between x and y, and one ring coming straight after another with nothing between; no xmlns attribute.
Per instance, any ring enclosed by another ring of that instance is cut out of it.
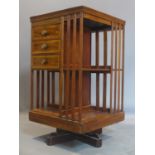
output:
<svg viewBox="0 0 155 155"><path fill-rule="evenodd" d="M59 85L55 79L55 73L47 70L31 71L31 110L34 108L46 108L58 104L56 101L56 88Z"/></svg>

